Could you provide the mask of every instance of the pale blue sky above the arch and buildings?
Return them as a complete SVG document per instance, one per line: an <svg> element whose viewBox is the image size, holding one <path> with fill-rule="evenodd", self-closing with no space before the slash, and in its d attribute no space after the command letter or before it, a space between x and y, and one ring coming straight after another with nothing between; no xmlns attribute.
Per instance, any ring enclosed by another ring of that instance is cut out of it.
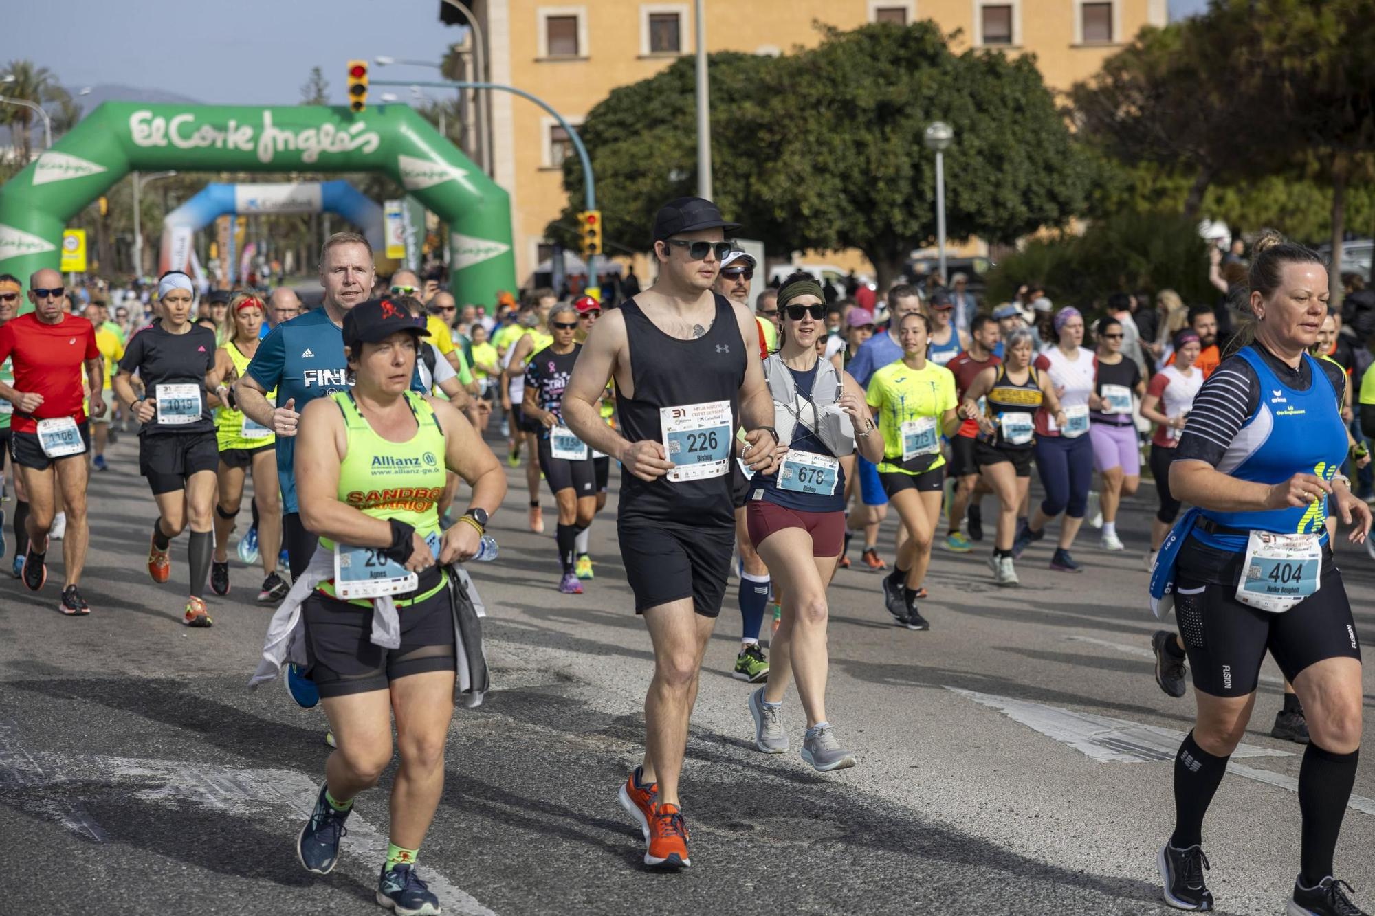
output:
<svg viewBox="0 0 1375 916"><path fill-rule="evenodd" d="M1170 0L1170 15L1206 3ZM294 105L319 65L331 100L342 103L349 58L439 61L458 34L440 25L439 0L60 0L7 17L0 61L29 58L69 87L124 84L241 105ZM415 67L373 72L393 74L436 76Z"/></svg>

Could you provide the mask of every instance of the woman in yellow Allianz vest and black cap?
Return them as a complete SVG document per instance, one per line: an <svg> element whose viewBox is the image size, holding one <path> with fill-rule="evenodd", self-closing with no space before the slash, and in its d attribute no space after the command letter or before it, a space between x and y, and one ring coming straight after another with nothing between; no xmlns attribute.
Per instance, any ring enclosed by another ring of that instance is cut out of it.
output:
<svg viewBox="0 0 1375 916"><path fill-rule="evenodd" d="M459 640L444 567L477 553L506 495L496 457L463 414L407 391L425 334L389 298L355 305L344 318L353 388L307 404L296 440L301 521L319 535L305 578L326 564L333 572L301 604L307 675L338 736L297 854L311 872L333 871L355 796L390 763L395 710L402 765L377 899L414 913L439 912L414 868L444 788L454 714ZM441 532L446 470L473 499ZM373 641L393 623L382 641L396 648Z"/></svg>

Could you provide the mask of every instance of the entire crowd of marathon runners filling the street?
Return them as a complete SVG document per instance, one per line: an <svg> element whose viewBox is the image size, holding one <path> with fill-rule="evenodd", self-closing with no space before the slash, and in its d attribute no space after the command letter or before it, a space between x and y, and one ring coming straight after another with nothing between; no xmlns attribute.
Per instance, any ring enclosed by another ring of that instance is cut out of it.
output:
<svg viewBox="0 0 1375 916"><path fill-rule="evenodd" d="M923 631L940 626L923 602L942 552L980 552L1006 589L1033 564L1082 575L1088 520L1088 549L1138 552L1151 571L1143 611L1174 611L1177 633L1152 641L1160 689L1195 685L1158 860L1165 899L1213 908L1202 824L1269 652L1286 677L1275 734L1306 745L1288 912L1361 913L1332 862L1363 689L1331 543L1339 530L1363 543L1371 524L1352 479L1370 462L1360 414L1375 414L1375 373L1328 308L1321 259L1266 234L1218 308L1166 290L1158 307L1114 293L1086 314L1028 283L984 309L960 275L850 297L808 272L751 301L763 265L730 241L740 228L705 199L666 204L649 239L656 281L615 307L547 289L459 307L411 271L380 282L352 232L324 243L309 311L290 289L201 294L169 272L147 303L111 314L56 271L0 275L0 553L47 593L60 541L58 609L99 611L81 582L88 477L110 466L113 437L136 432L148 576L175 580L186 626L209 627L230 564L260 565L254 598L276 611L254 682L282 677L297 703L323 707L337 750L301 864L334 868L353 799L395 745L377 898L422 915L440 906L415 864L450 718L488 688L481 598L461 565L490 558L506 495L488 443L512 469L524 462L524 521L551 534L550 589L579 601L597 600L588 532L619 466L617 514L601 524L616 527L654 657L644 759L619 799L654 868L692 865L682 762L732 572L754 745L791 750L781 710L795 685L799 752L830 772L859 763L843 711L833 723L826 708L839 568L881 574L874 611ZM1154 514L1148 543L1118 528L1132 502Z"/></svg>

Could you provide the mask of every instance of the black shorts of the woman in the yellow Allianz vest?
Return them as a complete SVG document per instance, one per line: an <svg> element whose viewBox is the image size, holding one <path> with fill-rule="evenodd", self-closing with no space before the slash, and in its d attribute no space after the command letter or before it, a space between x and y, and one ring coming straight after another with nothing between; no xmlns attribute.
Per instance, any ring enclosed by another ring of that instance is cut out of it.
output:
<svg viewBox="0 0 1375 916"><path fill-rule="evenodd" d="M331 598L319 591L301 604L305 622L307 677L320 696L385 690L410 674L456 671L454 605L448 589L397 608L402 645L384 649L371 642L373 608Z"/></svg>

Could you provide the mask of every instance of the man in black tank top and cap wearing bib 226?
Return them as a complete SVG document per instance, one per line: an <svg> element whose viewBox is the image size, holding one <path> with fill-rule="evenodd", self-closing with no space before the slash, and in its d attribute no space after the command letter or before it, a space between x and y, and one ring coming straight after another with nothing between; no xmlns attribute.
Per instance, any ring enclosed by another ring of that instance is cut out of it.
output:
<svg viewBox="0 0 1375 916"><path fill-rule="evenodd" d="M744 461L777 465L773 397L749 309L714 294L725 232L740 228L701 198L678 198L654 217L659 282L602 315L564 393L564 419L584 443L622 462L617 532L635 612L654 646L645 697L645 762L620 789L641 824L646 865L690 865L678 776L697 673L720 612L734 546L732 444ZM620 429L597 402L616 381Z"/></svg>

